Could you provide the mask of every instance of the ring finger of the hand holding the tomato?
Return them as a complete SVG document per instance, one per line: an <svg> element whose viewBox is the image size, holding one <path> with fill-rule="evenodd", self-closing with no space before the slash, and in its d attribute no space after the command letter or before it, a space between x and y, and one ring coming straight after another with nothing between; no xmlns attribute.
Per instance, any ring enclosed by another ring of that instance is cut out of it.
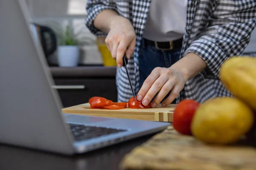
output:
<svg viewBox="0 0 256 170"><path fill-rule="evenodd" d="M160 91L157 94L157 96L154 98L153 102L151 103L151 107L155 108L164 99L164 97L173 89L174 85L175 85L174 81L168 80L163 85L163 87L160 89Z"/></svg>

